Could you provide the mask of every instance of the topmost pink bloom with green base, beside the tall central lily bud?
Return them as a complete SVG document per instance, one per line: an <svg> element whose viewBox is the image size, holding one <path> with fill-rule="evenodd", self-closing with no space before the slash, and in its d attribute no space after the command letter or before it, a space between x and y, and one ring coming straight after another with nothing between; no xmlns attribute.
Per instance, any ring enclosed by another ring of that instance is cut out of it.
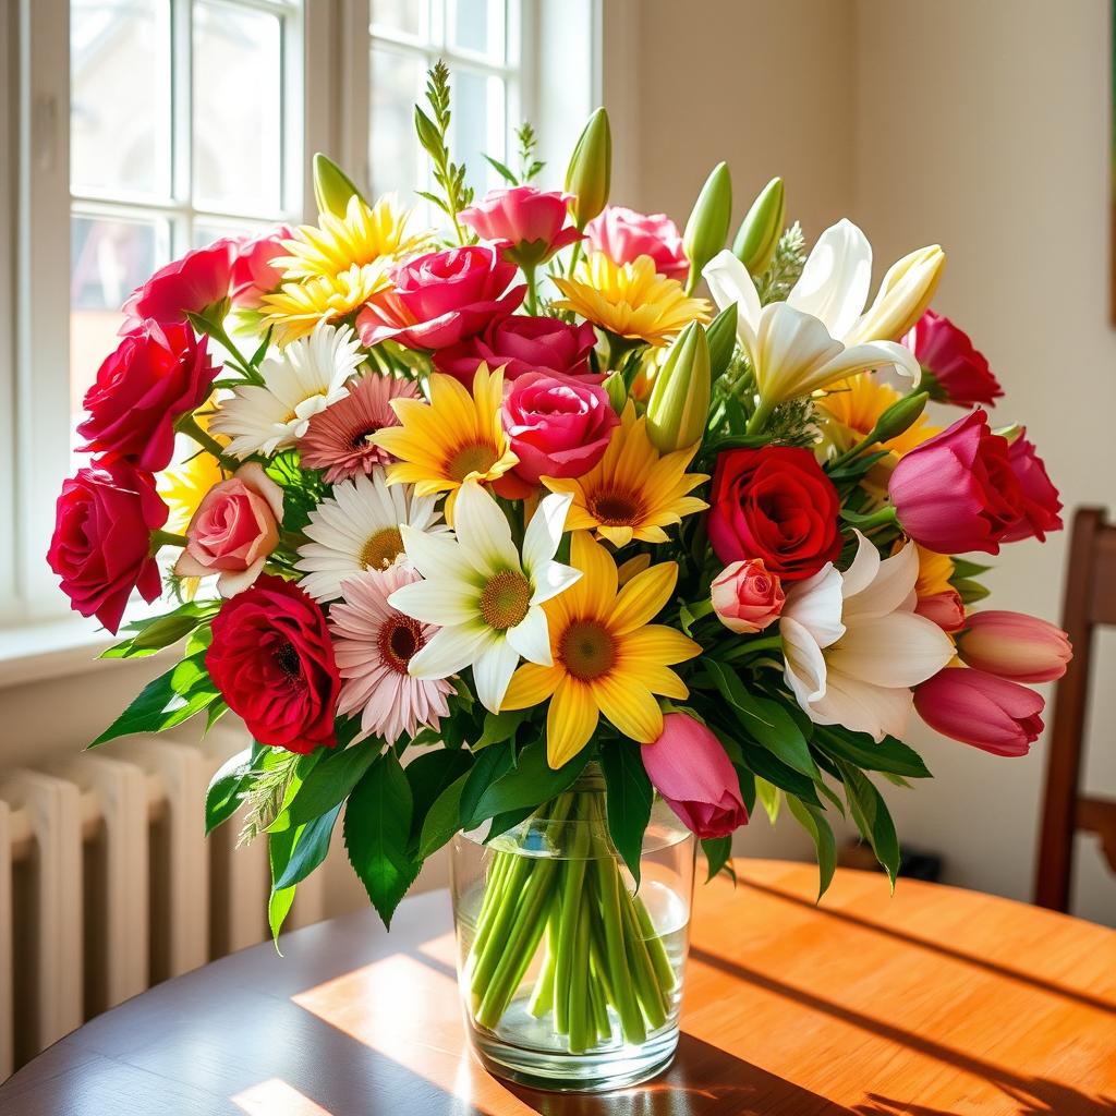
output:
<svg viewBox="0 0 1116 1116"><path fill-rule="evenodd" d="M573 196L535 186L490 190L482 202L461 211L461 220L482 240L502 249L504 259L531 268L583 239L583 233L566 224Z"/></svg>

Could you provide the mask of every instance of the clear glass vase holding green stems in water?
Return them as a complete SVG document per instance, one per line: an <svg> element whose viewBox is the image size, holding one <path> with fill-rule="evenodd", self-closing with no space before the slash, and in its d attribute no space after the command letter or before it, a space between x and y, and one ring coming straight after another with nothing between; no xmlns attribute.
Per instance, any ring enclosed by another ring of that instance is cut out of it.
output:
<svg viewBox="0 0 1116 1116"><path fill-rule="evenodd" d="M481 1062L559 1091L654 1077L679 1041L693 835L656 802L636 888L591 764L526 821L484 836L459 835L451 858L458 977Z"/></svg>

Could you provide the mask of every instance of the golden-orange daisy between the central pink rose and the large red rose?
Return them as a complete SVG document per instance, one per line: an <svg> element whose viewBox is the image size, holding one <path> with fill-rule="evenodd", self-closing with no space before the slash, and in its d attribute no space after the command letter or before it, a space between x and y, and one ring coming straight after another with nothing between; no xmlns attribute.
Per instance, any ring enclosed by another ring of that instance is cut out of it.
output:
<svg viewBox="0 0 1116 1116"><path fill-rule="evenodd" d="M628 403L605 455L584 477L542 478L551 492L574 497L567 530L593 528L599 538L617 547L633 539L665 542L664 527L709 507L686 494L709 480L705 473L686 472L698 446L661 455L647 437L646 426L647 420L636 419L635 407Z"/></svg>

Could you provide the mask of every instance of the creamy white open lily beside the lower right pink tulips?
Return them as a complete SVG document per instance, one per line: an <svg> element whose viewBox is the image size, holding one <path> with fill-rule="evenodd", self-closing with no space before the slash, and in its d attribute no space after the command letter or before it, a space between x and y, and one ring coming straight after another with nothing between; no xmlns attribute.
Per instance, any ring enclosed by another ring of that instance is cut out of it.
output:
<svg viewBox="0 0 1116 1116"><path fill-rule="evenodd" d="M779 619L787 685L816 724L840 724L875 740L902 737L911 687L954 656L953 643L914 613L914 542L891 558L856 532L844 574L831 562L787 594Z"/></svg>

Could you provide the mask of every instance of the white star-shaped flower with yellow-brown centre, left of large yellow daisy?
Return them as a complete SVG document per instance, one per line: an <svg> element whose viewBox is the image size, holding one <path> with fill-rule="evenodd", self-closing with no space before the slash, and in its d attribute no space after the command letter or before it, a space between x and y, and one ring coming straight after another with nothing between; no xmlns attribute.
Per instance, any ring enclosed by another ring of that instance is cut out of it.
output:
<svg viewBox="0 0 1116 1116"><path fill-rule="evenodd" d="M581 576L554 560L571 499L556 493L539 502L523 536L522 556L496 500L474 481L462 484L458 494L456 538L400 528L407 558L424 580L397 589L388 604L441 627L407 664L411 675L444 679L472 666L477 696L499 713L520 655L552 665L540 606Z"/></svg>

